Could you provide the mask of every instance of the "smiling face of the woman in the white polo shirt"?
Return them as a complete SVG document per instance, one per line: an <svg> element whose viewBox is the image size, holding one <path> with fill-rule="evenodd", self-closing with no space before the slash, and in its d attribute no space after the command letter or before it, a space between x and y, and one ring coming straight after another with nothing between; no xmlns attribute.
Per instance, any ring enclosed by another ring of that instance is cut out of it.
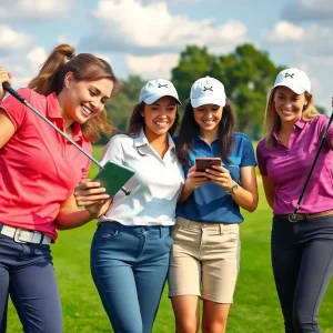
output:
<svg viewBox="0 0 333 333"><path fill-rule="evenodd" d="M149 141L164 135L175 121L175 100L169 95L162 97L152 104L145 104L141 115L144 118L145 137Z"/></svg>

